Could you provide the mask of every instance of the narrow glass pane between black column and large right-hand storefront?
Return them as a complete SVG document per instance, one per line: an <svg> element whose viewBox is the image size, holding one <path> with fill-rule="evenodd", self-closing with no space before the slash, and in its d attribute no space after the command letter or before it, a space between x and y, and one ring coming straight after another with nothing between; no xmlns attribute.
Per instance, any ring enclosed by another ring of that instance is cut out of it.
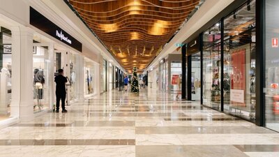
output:
<svg viewBox="0 0 279 157"><path fill-rule="evenodd" d="M192 100L200 100L200 52L192 55Z"/></svg>

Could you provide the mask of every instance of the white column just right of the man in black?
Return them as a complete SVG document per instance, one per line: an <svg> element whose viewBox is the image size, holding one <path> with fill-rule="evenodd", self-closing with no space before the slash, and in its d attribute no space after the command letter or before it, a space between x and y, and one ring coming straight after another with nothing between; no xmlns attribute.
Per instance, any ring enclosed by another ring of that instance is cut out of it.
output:
<svg viewBox="0 0 279 157"><path fill-rule="evenodd" d="M84 101L84 57L76 54L77 59L77 90L76 96L79 102Z"/></svg>

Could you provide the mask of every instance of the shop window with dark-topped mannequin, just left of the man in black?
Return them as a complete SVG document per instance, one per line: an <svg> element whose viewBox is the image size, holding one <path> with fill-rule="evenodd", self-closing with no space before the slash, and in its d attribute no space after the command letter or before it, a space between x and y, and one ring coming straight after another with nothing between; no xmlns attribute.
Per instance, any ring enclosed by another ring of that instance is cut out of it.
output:
<svg viewBox="0 0 279 157"><path fill-rule="evenodd" d="M33 46L33 101L34 112L50 108L50 59L45 46Z"/></svg>

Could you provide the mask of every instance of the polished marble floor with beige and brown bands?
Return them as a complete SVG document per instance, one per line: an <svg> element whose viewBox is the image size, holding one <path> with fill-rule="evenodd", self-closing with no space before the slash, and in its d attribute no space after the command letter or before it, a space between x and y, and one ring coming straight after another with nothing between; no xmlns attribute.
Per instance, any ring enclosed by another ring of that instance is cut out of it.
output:
<svg viewBox="0 0 279 157"><path fill-rule="evenodd" d="M110 91L0 131L0 156L279 156L279 133L176 95Z"/></svg>

